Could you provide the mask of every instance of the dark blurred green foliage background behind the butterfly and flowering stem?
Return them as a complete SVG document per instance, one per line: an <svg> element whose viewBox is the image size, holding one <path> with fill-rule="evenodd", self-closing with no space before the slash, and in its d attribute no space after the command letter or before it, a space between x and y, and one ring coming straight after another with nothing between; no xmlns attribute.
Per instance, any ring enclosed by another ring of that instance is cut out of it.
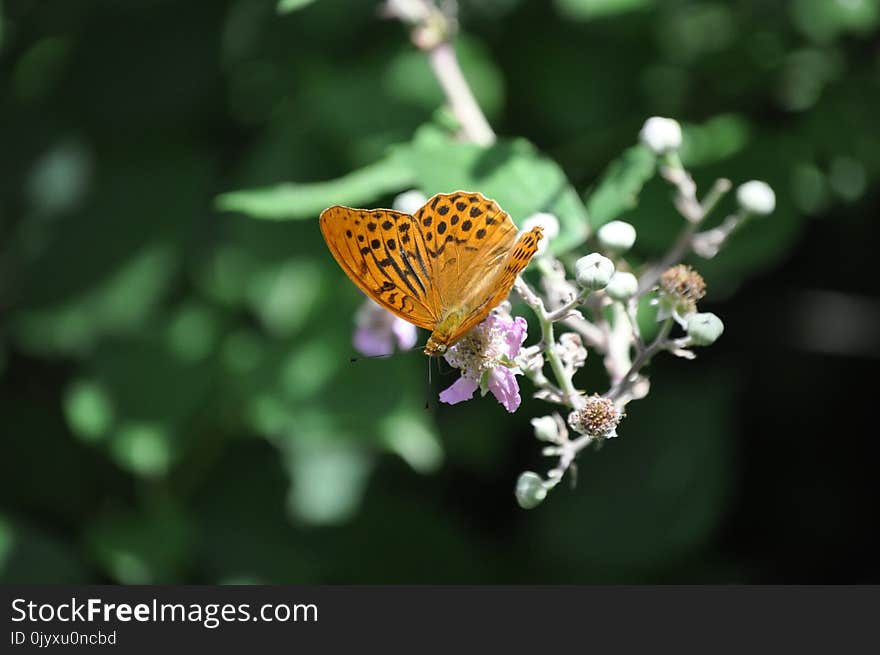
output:
<svg viewBox="0 0 880 655"><path fill-rule="evenodd" d="M426 414L421 355L349 365L359 297L314 221L214 208L429 121L400 24L366 1L4 0L0 580L878 582L876 0L459 4L496 131L578 190L654 114L704 188L774 187L695 262L721 340L652 365L621 438L525 512L546 405ZM636 257L679 229L669 195L624 216Z"/></svg>

